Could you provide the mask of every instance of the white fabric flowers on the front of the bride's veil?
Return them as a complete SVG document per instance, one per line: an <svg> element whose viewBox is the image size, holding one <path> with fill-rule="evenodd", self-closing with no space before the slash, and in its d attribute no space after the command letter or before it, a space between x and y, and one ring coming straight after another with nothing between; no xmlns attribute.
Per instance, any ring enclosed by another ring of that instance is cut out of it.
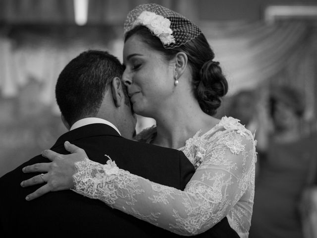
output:
<svg viewBox="0 0 317 238"><path fill-rule="evenodd" d="M175 43L175 39L172 35L173 31L169 28L170 20L157 15L155 12L143 11L133 22L132 27L137 25L144 25L149 28L154 35L159 37L163 45Z"/></svg>

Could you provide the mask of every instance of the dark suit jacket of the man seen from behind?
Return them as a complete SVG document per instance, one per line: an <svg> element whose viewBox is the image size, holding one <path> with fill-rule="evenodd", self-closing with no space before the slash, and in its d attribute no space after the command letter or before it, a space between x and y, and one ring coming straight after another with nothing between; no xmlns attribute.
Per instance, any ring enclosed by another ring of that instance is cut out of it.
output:
<svg viewBox="0 0 317 238"><path fill-rule="evenodd" d="M127 140L106 124L71 130L60 136L51 149L67 154L63 146L66 140L83 148L94 161L105 164L106 154L121 169L179 189L184 189L194 173L182 152ZM22 168L43 162L49 160L38 155L0 178L0 237L178 237L70 190L26 201L25 196L43 184L21 187L22 180L34 176L22 173ZM237 234L225 218L199 237L230 238Z"/></svg>

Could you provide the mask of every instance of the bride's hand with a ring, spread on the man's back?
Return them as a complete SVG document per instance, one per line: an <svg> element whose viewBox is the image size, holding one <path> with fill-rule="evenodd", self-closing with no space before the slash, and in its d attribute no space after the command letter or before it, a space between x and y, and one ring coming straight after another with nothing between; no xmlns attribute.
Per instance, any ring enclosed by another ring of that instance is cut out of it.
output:
<svg viewBox="0 0 317 238"><path fill-rule="evenodd" d="M46 182L35 192L27 195L26 200L33 200L50 191L66 190L74 187L73 175L77 172L75 163L88 158L88 156L83 149L70 144L68 141L64 143L64 147L71 154L62 155L52 150L44 150L42 156L51 160L51 163L38 163L22 169L24 173L47 172L21 182L22 187Z"/></svg>

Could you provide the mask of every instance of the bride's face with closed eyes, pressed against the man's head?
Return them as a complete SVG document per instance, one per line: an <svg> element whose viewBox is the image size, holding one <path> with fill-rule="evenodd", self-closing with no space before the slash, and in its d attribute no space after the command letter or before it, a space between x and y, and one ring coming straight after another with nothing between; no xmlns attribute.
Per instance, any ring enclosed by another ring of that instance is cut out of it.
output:
<svg viewBox="0 0 317 238"><path fill-rule="evenodd" d="M158 51L131 36L124 44L123 81L127 85L133 110L144 117L153 117L163 111L172 98L175 64Z"/></svg>

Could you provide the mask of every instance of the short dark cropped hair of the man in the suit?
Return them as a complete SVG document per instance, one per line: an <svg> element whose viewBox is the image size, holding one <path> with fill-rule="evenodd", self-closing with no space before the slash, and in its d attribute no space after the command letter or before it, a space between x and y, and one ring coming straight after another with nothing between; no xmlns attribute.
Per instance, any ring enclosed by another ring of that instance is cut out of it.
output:
<svg viewBox="0 0 317 238"><path fill-rule="evenodd" d="M96 116L107 86L122 73L120 61L105 51L85 51L71 60L55 87L56 101L67 123L71 126L78 119Z"/></svg>

